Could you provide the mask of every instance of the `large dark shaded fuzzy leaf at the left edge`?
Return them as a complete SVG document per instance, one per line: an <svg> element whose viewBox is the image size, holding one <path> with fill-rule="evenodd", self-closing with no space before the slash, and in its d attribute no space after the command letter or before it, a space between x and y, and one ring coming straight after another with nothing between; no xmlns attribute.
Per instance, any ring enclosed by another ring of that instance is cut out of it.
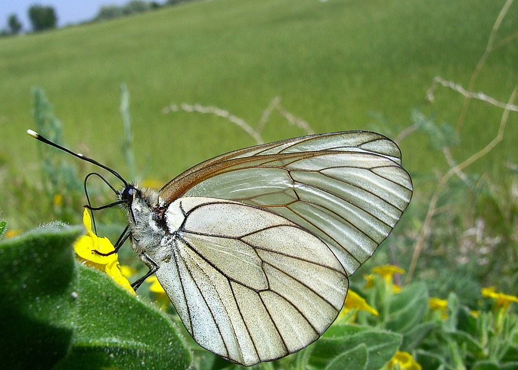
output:
<svg viewBox="0 0 518 370"><path fill-rule="evenodd" d="M49 368L69 350L78 282L70 245L80 233L54 224L0 241L3 366Z"/></svg>

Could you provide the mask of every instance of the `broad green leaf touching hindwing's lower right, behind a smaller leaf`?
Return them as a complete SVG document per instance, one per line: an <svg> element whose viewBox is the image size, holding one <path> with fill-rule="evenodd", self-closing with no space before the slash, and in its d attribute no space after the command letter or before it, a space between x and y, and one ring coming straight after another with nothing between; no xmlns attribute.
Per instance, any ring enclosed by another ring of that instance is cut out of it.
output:
<svg viewBox="0 0 518 370"><path fill-rule="evenodd" d="M323 368L357 346L366 346L366 369L379 369L396 353L401 335L371 327L350 324L334 324L311 346L309 365Z"/></svg>

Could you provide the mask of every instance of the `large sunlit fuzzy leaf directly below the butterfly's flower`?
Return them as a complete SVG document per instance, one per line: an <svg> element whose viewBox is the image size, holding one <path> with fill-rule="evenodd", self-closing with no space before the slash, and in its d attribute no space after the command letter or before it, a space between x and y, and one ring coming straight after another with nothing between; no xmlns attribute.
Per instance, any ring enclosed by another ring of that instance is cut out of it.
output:
<svg viewBox="0 0 518 370"><path fill-rule="evenodd" d="M79 312L71 352L57 368L188 368L174 324L111 278L78 263Z"/></svg>

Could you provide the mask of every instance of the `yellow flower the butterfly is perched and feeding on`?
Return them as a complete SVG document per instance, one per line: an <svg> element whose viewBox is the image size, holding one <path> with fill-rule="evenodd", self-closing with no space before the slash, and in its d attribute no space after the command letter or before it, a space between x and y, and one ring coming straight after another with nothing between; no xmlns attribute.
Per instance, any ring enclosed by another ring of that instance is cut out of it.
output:
<svg viewBox="0 0 518 370"><path fill-rule="evenodd" d="M87 229L87 235L82 235L74 243L74 250L85 265L107 273L117 284L135 294L130 282L122 276L117 253L102 256L100 253L110 253L114 250L108 238L99 238L92 230L92 219L88 210L83 213L83 224Z"/></svg>

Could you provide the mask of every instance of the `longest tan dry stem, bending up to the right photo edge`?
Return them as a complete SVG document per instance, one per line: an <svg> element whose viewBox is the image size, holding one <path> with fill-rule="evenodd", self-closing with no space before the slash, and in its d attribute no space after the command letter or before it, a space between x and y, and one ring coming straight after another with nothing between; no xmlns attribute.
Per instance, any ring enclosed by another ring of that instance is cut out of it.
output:
<svg viewBox="0 0 518 370"><path fill-rule="evenodd" d="M516 95L518 93L518 85L514 87L513 92L511 93L511 96L509 98L509 102L506 106L512 105L514 100L516 99ZM408 269L408 274L406 278L406 283L410 283L413 277L413 274L415 272L415 268L417 266L417 262L419 259L419 256L421 254L421 250L423 249L424 241L426 239L426 236L428 236L430 227L431 227L431 221L433 216L437 212L437 202L439 200L439 196L441 194L441 191L445 187L445 185L450 181L451 177L455 174L458 174L459 172L462 172L466 167L472 165L474 162L482 158L483 156L487 155L489 152L493 150L493 148L503 139L503 134L506 129L508 117L509 117L509 109L505 109L502 113L502 117L500 120L500 126L498 127L498 132L496 137L488 143L486 146L484 146L481 150L479 150L477 153L474 153L469 158L464 160L463 162L459 163L458 165L451 167L448 172L446 172L439 180L437 187L434 191L434 194L431 196L430 202L428 204L428 210L426 212L426 217L423 222L423 226L421 227L421 231L419 233L418 239L415 243L415 249L412 254L412 262L410 263L410 268Z"/></svg>

